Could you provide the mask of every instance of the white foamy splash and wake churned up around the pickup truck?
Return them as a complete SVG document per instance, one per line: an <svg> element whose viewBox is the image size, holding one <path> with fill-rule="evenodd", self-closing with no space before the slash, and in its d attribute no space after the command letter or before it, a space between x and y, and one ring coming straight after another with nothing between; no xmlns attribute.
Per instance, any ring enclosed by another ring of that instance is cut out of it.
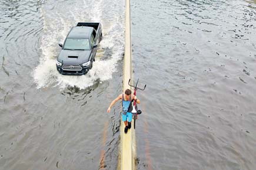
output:
<svg viewBox="0 0 256 170"><path fill-rule="evenodd" d="M85 89L92 86L95 80L104 81L112 78L112 73L116 71L115 65L121 59L124 52L124 28L122 19L117 19L119 15L111 14L106 16L108 13L105 13L104 16L102 15L104 10L102 3L109 2L101 0L101 2L95 4L87 4L83 0L81 4L76 2L72 5L66 5L68 9L63 8L64 4L55 6L51 10L48 9L47 4L42 6L41 13L42 18L44 18L44 35L41 40L42 56L33 74L38 89L48 86L58 86L60 89L67 86L77 86L80 89ZM94 11L91 13L94 13L94 15L89 15L90 11L88 9L90 9L90 5L94 6L94 8L91 8L91 11ZM79 6L79 9L77 6ZM81 9L83 6L84 10ZM91 16L91 18L88 18L88 16ZM109 22L106 21L108 18L111 18ZM104 23L102 23L104 39L100 43L92 69L83 76L64 76L59 74L55 65L56 57L60 51L58 43L64 42L68 31L77 22L101 21L104 21L106 25L104 29ZM103 60L101 56L106 55L107 50L111 57L107 57L107 59L104 57Z"/></svg>

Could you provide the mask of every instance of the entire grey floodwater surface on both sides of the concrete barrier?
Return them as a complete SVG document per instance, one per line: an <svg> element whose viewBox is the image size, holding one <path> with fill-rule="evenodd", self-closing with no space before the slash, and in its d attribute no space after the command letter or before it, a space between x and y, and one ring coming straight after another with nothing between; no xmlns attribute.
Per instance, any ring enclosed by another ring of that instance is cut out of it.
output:
<svg viewBox="0 0 256 170"><path fill-rule="evenodd" d="M125 1L0 1L0 169L117 169ZM94 67L62 76L72 26ZM255 169L256 2L131 1L137 169Z"/></svg>

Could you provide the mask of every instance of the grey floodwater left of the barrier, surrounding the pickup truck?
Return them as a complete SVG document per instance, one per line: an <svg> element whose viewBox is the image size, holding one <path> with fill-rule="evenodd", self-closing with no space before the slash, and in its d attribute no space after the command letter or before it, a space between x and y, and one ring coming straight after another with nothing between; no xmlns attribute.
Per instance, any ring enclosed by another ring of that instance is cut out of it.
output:
<svg viewBox="0 0 256 170"><path fill-rule="evenodd" d="M113 5L113 3L115 5ZM104 4L104 5L102 5ZM124 2L0 2L0 169L116 169ZM61 76L55 60L77 22L101 22L93 69Z"/></svg>

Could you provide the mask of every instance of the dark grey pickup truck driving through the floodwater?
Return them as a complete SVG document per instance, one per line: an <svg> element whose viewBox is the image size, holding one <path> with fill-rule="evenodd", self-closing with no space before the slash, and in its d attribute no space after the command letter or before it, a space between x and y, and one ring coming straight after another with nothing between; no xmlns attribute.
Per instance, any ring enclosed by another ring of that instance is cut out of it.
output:
<svg viewBox="0 0 256 170"><path fill-rule="evenodd" d="M82 75L92 69L99 42L102 40L101 23L78 22L69 31L56 60L61 74Z"/></svg>

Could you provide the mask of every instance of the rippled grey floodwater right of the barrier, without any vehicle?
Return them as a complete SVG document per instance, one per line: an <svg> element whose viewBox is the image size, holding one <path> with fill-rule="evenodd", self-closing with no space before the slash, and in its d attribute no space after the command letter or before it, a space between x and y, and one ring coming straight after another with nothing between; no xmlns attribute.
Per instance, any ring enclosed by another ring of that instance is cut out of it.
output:
<svg viewBox="0 0 256 170"><path fill-rule="evenodd" d="M131 4L138 169L255 169L255 1Z"/></svg>

